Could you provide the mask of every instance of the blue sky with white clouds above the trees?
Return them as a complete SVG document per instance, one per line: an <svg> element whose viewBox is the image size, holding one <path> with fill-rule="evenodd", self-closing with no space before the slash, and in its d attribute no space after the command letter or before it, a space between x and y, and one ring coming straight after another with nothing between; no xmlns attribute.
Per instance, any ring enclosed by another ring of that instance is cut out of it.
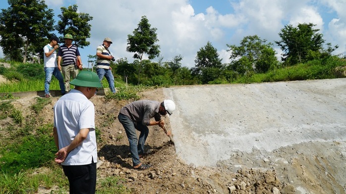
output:
<svg viewBox="0 0 346 194"><path fill-rule="evenodd" d="M1 0L0 8L7 8L6 2ZM189 68L208 41L228 63L226 44L239 45L245 36L258 35L275 45L285 25L298 23L316 24L326 43L339 45L334 54L346 54L346 0L46 0L46 4L56 17L61 6L73 4L93 17L90 46L80 49L84 66L87 55L96 54L105 37L113 41L110 50L115 58L132 62L133 53L126 52L127 35L143 15L157 28L163 61L180 54L182 65ZM275 49L279 56L282 51Z"/></svg>

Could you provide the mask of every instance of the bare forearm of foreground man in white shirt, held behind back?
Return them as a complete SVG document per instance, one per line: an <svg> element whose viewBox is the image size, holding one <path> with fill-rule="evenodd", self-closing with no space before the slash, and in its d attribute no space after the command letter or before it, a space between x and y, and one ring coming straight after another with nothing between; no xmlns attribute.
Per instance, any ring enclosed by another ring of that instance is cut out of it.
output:
<svg viewBox="0 0 346 194"><path fill-rule="evenodd" d="M70 145L62 147L58 150L58 152L55 154L57 156L55 158L55 161L58 163L65 161L68 153L72 151L74 148L76 148L78 145L80 145L88 137L89 131L89 128L83 128L79 130L79 133L76 135L76 137L74 137Z"/></svg>

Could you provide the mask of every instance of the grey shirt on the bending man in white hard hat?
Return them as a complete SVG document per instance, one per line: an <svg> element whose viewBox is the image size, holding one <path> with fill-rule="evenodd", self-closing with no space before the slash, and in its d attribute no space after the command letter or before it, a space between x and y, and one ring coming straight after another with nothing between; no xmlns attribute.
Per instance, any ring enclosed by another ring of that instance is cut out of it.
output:
<svg viewBox="0 0 346 194"><path fill-rule="evenodd" d="M159 101L144 99L127 104L120 109L120 113L133 122L141 122L143 125L148 126L151 118L155 117L156 121L161 119L159 109Z"/></svg>

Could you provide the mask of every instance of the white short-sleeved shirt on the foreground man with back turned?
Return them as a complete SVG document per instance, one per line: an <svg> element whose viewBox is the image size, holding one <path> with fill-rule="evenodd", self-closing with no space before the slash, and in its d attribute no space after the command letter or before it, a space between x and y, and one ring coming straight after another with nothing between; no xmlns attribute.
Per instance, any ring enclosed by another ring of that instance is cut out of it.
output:
<svg viewBox="0 0 346 194"><path fill-rule="evenodd" d="M78 90L60 97L54 105L54 126L57 127L59 149L73 141L80 129L89 128L88 137L66 157L61 165L86 165L97 162L95 106Z"/></svg>

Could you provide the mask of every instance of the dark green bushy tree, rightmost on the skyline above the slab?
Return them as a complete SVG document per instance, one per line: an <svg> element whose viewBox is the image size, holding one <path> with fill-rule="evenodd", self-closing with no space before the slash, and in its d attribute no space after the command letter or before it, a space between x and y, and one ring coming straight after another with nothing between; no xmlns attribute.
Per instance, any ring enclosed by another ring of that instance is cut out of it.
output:
<svg viewBox="0 0 346 194"><path fill-rule="evenodd" d="M319 29L313 29L314 26L316 25L312 23L304 23L297 27L286 25L281 29L281 41L275 43L284 51L282 60L287 65L306 62L309 50L322 50L325 40L322 39L322 34L317 33Z"/></svg>

